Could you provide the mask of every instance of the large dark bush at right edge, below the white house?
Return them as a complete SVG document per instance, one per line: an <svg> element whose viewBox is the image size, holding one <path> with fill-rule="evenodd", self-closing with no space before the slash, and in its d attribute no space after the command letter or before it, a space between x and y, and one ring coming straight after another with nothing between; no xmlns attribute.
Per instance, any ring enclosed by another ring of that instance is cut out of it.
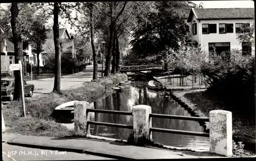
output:
<svg viewBox="0 0 256 161"><path fill-rule="evenodd" d="M241 52L238 53L241 54ZM235 59L235 57L237 56L225 60L218 56L211 63L205 62L201 72L207 78L208 91L231 105L234 110L246 114L255 110L255 60L254 57L241 59Z"/></svg>

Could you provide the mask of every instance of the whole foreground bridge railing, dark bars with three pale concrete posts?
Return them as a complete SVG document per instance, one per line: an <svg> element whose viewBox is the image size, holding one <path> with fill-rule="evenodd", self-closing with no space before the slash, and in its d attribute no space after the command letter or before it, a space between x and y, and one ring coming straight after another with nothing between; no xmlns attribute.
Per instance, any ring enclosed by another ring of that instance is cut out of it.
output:
<svg viewBox="0 0 256 161"><path fill-rule="evenodd" d="M228 130L227 126L232 125L231 112L225 110L212 110L210 111L209 118L200 118L200 117L185 117L185 116L174 116L170 114L157 114L151 113L152 107L146 105L137 105L133 107L133 112L128 111L111 111L111 110L101 110L101 109L91 109L90 103L79 101L74 104L74 118L75 118L75 134L90 136L90 124L94 125L103 125L103 126L112 126L112 127L121 127L133 129L134 132L134 141L137 141L141 137L148 137L152 139L152 131L155 132L166 132L166 133L176 133L176 134L185 134L185 135L195 135L195 136L205 136L209 137L210 142L210 152L215 152L218 154L229 156L232 153L232 130ZM133 116L133 125L124 125L116 123L105 123L90 121L90 116L88 112L103 112L103 113L115 113L115 114L129 114ZM84 114L83 114L84 113ZM87 114L85 114L87 113ZM225 117L223 117L225 116ZM152 127L152 117L157 118L167 118L167 119L180 119L180 120L191 120L191 121L207 121L209 120L210 132L196 132L196 131L184 131L184 130L174 130L174 129L165 129ZM149 123L148 123L149 122ZM221 122L221 124L217 124ZM86 126L84 126L86 125ZM215 128L218 126L218 128ZM214 128L211 128L214 127ZM224 129L224 130L223 130ZM85 133L86 131L86 133ZM143 132L142 132L143 131ZM210 134L214 137L210 137ZM218 141L216 142L216 137ZM104 137L104 139L107 139ZM223 140L227 140L223 142ZM228 146L229 149L222 149L221 152L215 151L217 146ZM231 147L231 148L230 148ZM231 150L230 150L231 149Z"/></svg>

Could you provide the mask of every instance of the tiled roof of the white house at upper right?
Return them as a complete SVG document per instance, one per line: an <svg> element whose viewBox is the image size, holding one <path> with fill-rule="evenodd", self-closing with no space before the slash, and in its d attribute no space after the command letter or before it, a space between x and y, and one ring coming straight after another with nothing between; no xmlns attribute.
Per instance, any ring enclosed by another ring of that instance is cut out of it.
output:
<svg viewBox="0 0 256 161"><path fill-rule="evenodd" d="M188 22L194 14L197 19L254 18L254 8L193 8L190 10Z"/></svg>

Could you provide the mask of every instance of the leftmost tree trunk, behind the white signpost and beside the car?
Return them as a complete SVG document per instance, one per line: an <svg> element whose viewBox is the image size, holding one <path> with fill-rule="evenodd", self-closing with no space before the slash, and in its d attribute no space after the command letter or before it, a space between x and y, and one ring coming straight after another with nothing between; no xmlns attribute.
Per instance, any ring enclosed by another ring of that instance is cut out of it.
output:
<svg viewBox="0 0 256 161"><path fill-rule="evenodd" d="M11 6L11 27L15 53L15 64L22 61L22 68L24 69L24 56L23 56L23 41L20 33L20 24L18 22L18 3L12 3ZM24 72L23 72L24 73ZM20 82L20 72L14 71L15 87L14 87L14 100L22 100L22 84Z"/></svg>

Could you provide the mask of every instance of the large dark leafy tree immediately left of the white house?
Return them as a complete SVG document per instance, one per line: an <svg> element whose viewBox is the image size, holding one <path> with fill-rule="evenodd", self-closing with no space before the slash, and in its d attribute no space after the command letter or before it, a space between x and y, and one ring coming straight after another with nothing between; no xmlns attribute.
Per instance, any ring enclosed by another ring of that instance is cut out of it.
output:
<svg viewBox="0 0 256 161"><path fill-rule="evenodd" d="M132 51L139 58L160 54L166 59L169 48L177 51L189 37L186 18L190 9L187 2L152 3L145 14L137 17Z"/></svg>

